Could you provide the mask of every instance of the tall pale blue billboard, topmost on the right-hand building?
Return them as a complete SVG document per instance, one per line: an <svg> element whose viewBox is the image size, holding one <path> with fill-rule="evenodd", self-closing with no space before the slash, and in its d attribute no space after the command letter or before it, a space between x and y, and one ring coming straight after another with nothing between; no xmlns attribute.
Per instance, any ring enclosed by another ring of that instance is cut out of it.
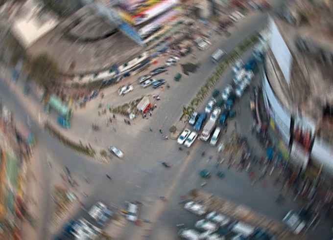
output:
<svg viewBox="0 0 333 240"><path fill-rule="evenodd" d="M269 25L272 31L270 48L274 54L276 61L278 62L278 65L282 70L282 73L285 77L285 81L289 85L292 56L289 51L289 48L287 47L284 39L281 36L281 33L277 25L271 18L269 20Z"/></svg>

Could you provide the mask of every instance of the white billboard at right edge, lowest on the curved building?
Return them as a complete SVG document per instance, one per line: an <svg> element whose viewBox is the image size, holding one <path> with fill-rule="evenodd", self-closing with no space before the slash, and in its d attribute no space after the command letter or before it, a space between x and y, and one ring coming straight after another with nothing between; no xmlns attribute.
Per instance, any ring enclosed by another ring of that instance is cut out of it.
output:
<svg viewBox="0 0 333 240"><path fill-rule="evenodd" d="M316 137L311 150L311 159L320 165L323 164L323 168L327 169L328 172L333 172L332 144Z"/></svg>

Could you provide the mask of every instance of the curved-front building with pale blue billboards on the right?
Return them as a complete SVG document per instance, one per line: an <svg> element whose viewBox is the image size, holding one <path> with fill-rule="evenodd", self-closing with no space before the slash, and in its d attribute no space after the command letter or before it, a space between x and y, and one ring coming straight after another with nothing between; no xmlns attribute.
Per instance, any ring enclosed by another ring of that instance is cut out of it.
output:
<svg viewBox="0 0 333 240"><path fill-rule="evenodd" d="M295 1L270 19L262 75L273 144L315 177L333 173L333 15L321 4Z"/></svg>

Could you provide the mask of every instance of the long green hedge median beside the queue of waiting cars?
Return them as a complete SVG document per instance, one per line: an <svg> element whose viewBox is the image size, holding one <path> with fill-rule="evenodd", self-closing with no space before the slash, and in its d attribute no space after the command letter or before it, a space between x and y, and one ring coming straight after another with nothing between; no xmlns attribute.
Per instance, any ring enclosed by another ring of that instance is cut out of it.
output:
<svg viewBox="0 0 333 240"><path fill-rule="evenodd" d="M211 89L215 87L216 83L219 81L227 67L234 63L243 52L247 51L250 47L256 44L258 41L258 36L259 33L255 33L245 39L216 66L214 72L207 77L204 85L198 90L195 98L192 99L190 105L186 108L186 115L183 113L183 115L180 117L180 121L182 121L184 117L186 117L185 121L188 120L190 114L195 111L195 109L206 99Z"/></svg>

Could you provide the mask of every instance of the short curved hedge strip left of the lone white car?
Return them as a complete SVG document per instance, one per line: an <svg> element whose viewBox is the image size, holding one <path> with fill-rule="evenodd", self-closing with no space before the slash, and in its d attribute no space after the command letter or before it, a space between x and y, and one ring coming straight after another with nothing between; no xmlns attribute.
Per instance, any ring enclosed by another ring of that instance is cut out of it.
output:
<svg viewBox="0 0 333 240"><path fill-rule="evenodd" d="M58 131L56 128L54 128L49 122L46 122L44 125L45 129L54 137L56 137L61 143L63 143L65 146L69 147L71 150L82 153L90 157L95 156L95 150L91 150L88 147L83 147L78 143L75 143L65 137L63 134L61 134L60 131Z"/></svg>

